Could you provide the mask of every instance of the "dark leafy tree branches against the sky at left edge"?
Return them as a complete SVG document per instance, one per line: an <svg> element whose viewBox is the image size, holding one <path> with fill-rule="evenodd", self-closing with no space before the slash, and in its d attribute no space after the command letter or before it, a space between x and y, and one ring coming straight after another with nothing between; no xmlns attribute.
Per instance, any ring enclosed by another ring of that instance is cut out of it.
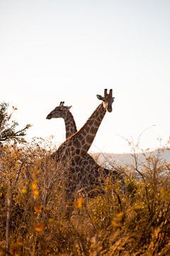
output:
<svg viewBox="0 0 170 256"><path fill-rule="evenodd" d="M13 110L16 110L16 107L13 107ZM27 124L26 127L16 131L18 123L16 121L11 121L12 114L8 114L8 104L0 104L0 142L6 142L11 139L17 141L22 141L21 137L26 135L26 131L30 128L30 124Z"/></svg>

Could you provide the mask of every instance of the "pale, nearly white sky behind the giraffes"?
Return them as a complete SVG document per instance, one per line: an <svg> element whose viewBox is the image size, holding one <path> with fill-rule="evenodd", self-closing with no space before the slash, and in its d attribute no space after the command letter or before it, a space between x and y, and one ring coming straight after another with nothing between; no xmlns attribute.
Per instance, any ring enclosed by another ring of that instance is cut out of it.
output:
<svg viewBox="0 0 170 256"><path fill-rule="evenodd" d="M28 137L65 139L62 119L47 114L64 101L78 129L113 88L90 151L128 152L122 137L157 148L170 136L169 0L0 0L0 102ZM152 127L155 124L154 127Z"/></svg>

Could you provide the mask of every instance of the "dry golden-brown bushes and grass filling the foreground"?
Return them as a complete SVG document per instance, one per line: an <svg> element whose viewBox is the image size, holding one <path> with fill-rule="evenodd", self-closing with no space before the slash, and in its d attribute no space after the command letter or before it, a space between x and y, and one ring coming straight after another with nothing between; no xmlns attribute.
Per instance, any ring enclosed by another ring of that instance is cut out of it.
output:
<svg viewBox="0 0 170 256"><path fill-rule="evenodd" d="M67 171L51 153L40 142L1 149L0 255L170 255L169 164L151 155L139 166L134 154L135 166L116 167L125 196L108 178L67 218Z"/></svg>

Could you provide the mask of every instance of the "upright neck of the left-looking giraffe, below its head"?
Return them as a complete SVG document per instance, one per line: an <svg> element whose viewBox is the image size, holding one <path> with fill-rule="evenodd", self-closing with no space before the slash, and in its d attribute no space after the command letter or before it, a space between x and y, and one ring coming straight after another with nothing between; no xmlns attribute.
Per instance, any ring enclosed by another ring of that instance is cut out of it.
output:
<svg viewBox="0 0 170 256"><path fill-rule="evenodd" d="M74 121L74 117L71 112L67 112L67 116L64 117L65 129L66 129L66 139L69 138L72 134L77 132L77 126Z"/></svg>

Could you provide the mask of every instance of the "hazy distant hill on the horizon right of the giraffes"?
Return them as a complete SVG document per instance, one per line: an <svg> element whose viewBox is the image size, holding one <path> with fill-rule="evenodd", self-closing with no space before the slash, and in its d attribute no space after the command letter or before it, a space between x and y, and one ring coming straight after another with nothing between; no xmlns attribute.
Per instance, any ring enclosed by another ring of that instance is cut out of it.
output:
<svg viewBox="0 0 170 256"><path fill-rule="evenodd" d="M113 164L124 166L125 164L135 164L132 154L108 154L97 153L93 154L98 163L102 166L111 167ZM170 164L170 149L157 149L154 151L147 151L145 155L142 153L137 154L138 162L146 161L149 156L155 156L159 159L167 161Z"/></svg>

